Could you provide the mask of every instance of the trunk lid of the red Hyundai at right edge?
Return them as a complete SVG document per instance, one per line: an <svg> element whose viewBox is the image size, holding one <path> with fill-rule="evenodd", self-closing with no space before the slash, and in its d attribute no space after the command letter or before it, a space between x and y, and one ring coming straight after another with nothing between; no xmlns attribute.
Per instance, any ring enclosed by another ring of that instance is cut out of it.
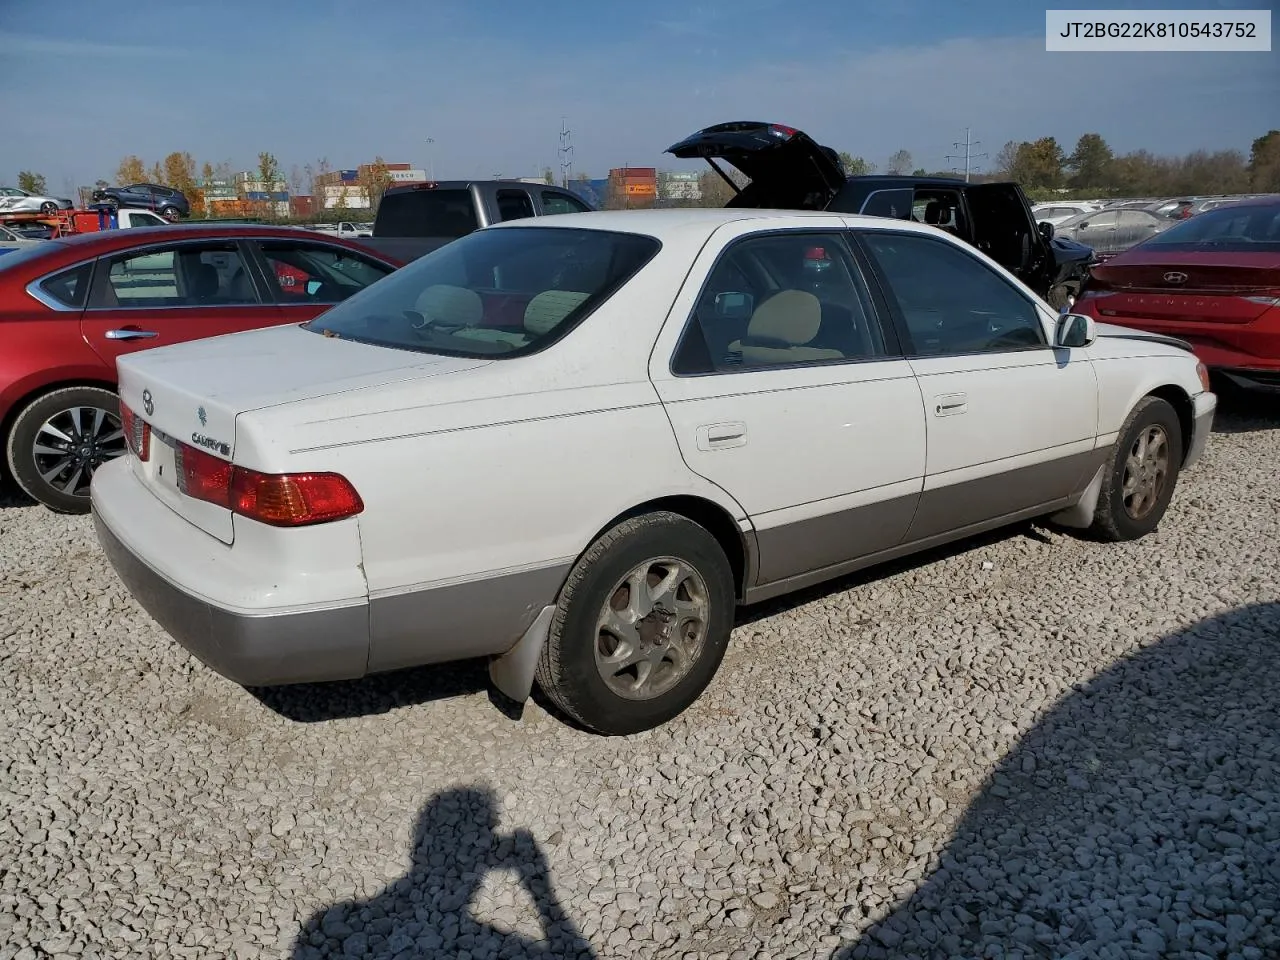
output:
<svg viewBox="0 0 1280 960"><path fill-rule="evenodd" d="M1135 247L1093 268L1098 311L1174 323L1251 323L1280 301L1280 253Z"/></svg>

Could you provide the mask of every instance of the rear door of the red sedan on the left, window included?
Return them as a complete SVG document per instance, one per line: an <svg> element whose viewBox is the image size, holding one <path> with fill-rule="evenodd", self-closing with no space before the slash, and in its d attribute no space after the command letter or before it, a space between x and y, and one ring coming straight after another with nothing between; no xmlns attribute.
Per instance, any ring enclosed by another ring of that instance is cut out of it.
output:
<svg viewBox="0 0 1280 960"><path fill-rule="evenodd" d="M253 282L239 242L155 243L100 257L81 319L86 342L115 367L136 349L282 321Z"/></svg>

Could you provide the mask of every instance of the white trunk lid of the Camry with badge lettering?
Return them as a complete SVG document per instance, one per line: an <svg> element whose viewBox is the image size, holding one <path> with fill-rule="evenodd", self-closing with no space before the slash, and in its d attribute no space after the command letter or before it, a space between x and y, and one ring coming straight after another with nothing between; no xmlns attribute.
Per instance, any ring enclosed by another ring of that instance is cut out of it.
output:
<svg viewBox="0 0 1280 960"><path fill-rule="evenodd" d="M232 511L179 486L184 448L236 462L239 413L488 362L375 347L292 325L129 353L118 361L120 401L150 428L148 457L133 457L133 471L175 513L230 544Z"/></svg>

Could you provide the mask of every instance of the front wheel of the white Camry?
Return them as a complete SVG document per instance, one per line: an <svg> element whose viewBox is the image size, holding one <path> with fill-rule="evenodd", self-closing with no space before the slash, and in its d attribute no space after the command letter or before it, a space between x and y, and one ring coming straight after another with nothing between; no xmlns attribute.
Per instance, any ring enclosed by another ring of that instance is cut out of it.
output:
<svg viewBox="0 0 1280 960"><path fill-rule="evenodd" d="M1093 531L1112 543L1152 532L1169 508L1181 463L1178 412L1167 401L1143 397L1107 460Z"/></svg>

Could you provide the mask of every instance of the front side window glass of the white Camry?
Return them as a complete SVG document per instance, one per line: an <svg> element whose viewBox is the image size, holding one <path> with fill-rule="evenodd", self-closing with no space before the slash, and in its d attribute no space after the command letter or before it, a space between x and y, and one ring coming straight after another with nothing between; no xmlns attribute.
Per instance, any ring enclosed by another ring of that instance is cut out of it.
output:
<svg viewBox="0 0 1280 960"><path fill-rule="evenodd" d="M956 243L887 230L861 238L906 324L913 356L1047 346L1036 305Z"/></svg>

